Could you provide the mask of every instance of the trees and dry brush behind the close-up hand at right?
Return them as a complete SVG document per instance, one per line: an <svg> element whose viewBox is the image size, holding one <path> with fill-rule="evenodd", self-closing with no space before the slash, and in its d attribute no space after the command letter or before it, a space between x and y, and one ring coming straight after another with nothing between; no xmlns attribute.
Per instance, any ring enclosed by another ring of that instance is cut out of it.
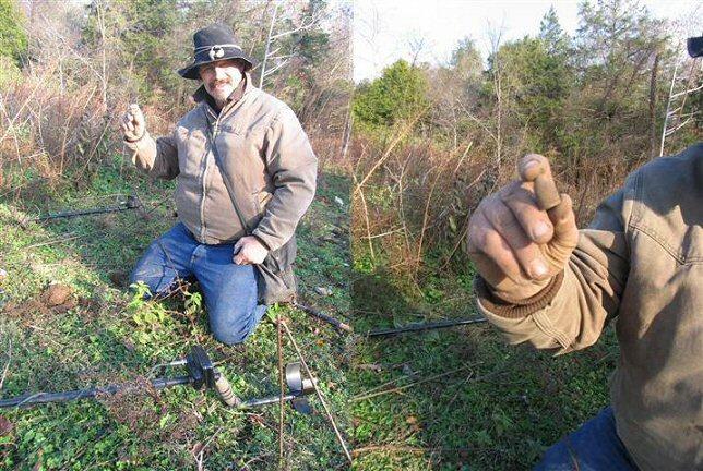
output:
<svg viewBox="0 0 703 471"><path fill-rule="evenodd" d="M433 251L443 254L441 268L464 263L472 208L532 152L552 160L587 222L629 171L658 156L671 75L686 47L675 26L636 0L583 1L574 35L551 8L535 35L502 40L502 32L489 32L486 62L475 39L464 38L445 64L398 60L359 84L357 250L385 252L395 266L405 261L403 274L432 265ZM700 110L701 99L693 95L683 111ZM701 124L699 113L666 149L700 140Z"/></svg>

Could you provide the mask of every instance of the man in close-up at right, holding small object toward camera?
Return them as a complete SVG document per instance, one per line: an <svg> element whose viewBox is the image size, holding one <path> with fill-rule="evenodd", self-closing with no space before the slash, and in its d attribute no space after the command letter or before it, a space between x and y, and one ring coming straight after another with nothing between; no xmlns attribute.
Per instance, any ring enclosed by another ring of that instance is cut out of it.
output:
<svg viewBox="0 0 703 471"><path fill-rule="evenodd" d="M581 231L543 156L519 171L469 221L480 311L511 343L557 354L610 321L620 343L611 407L538 469L703 469L703 143L635 171Z"/></svg>

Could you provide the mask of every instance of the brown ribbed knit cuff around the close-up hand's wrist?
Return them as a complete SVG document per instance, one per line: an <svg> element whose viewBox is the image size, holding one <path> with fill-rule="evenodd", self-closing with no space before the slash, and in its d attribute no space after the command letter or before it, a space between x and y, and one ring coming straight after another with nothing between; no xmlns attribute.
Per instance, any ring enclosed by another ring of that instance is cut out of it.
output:
<svg viewBox="0 0 703 471"><path fill-rule="evenodd" d="M521 318L545 309L557 295L564 279L561 270L552 277L541 291L522 301L508 302L493 294L490 287L481 276L474 279L474 290L481 305L500 317Z"/></svg>

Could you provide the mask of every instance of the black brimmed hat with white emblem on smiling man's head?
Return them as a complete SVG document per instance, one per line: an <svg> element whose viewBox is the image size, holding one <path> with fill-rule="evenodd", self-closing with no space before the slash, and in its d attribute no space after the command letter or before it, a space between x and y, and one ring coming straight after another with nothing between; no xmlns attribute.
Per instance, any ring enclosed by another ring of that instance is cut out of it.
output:
<svg viewBox="0 0 703 471"><path fill-rule="evenodd" d="M193 35L193 63L178 73L183 78L198 80L200 65L225 59L241 59L247 64L245 71L257 64L255 59L241 50L235 32L227 25L215 23Z"/></svg>

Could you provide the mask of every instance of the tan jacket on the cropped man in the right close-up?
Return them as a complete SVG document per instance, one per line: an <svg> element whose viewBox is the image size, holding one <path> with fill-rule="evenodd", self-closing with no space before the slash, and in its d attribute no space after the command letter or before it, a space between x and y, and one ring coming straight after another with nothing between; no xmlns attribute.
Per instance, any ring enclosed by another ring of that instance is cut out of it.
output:
<svg viewBox="0 0 703 471"><path fill-rule="evenodd" d="M529 305L479 309L511 343L565 353L611 319L618 435L644 471L703 469L703 143L635 171L581 231L563 277Z"/></svg>

